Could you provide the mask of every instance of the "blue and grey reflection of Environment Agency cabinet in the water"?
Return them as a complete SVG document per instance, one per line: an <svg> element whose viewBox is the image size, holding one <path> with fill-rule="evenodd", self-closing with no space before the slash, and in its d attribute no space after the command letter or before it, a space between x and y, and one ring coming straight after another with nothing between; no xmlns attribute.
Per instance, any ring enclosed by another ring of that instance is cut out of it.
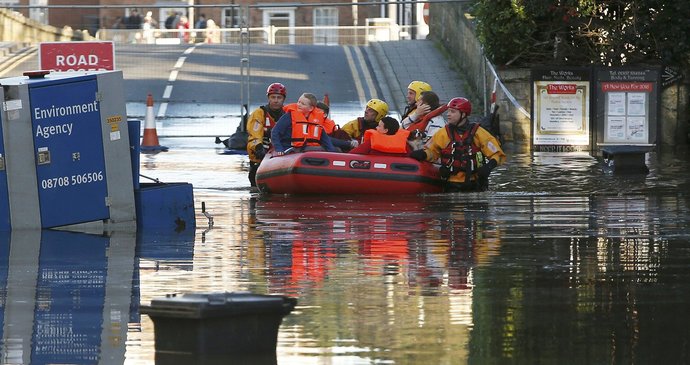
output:
<svg viewBox="0 0 690 365"><path fill-rule="evenodd" d="M21 231L1 238L2 362L124 362L134 233Z"/></svg>

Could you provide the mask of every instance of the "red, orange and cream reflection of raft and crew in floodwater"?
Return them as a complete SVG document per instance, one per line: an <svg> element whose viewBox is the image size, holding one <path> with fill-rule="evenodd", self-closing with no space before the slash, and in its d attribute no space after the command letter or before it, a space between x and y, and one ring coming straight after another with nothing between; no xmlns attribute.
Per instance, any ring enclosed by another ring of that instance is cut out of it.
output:
<svg viewBox="0 0 690 365"><path fill-rule="evenodd" d="M466 358L474 251L495 245L472 216L419 197L258 200L270 290L302 308L285 318L279 362L314 351L355 364Z"/></svg>

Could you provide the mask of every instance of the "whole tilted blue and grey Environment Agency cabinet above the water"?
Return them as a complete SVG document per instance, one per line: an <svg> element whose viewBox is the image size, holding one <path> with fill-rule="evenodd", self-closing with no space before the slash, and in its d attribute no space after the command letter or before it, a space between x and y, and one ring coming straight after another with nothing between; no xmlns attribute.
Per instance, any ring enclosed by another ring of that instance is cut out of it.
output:
<svg viewBox="0 0 690 365"><path fill-rule="evenodd" d="M9 228L132 227L136 209L121 71L1 79ZM3 152L0 152L3 153Z"/></svg>

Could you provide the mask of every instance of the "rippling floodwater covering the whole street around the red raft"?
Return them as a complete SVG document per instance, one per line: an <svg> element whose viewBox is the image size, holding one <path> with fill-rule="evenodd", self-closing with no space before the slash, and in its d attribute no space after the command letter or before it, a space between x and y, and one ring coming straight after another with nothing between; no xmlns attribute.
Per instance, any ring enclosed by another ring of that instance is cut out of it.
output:
<svg viewBox="0 0 690 365"><path fill-rule="evenodd" d="M154 364L141 305L233 291L298 300L261 364L690 362L687 152L620 175L506 148L484 193L298 197L212 139L161 144L141 174L194 185L196 230L2 237L3 363Z"/></svg>

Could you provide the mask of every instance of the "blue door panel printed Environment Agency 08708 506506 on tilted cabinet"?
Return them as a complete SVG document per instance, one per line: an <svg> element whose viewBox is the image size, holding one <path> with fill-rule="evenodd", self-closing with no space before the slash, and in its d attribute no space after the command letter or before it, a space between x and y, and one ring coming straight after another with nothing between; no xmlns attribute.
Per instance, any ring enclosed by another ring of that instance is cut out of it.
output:
<svg viewBox="0 0 690 365"><path fill-rule="evenodd" d="M29 85L44 227L109 217L97 94L95 76Z"/></svg>

